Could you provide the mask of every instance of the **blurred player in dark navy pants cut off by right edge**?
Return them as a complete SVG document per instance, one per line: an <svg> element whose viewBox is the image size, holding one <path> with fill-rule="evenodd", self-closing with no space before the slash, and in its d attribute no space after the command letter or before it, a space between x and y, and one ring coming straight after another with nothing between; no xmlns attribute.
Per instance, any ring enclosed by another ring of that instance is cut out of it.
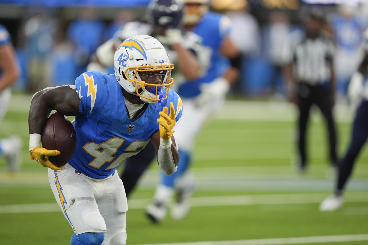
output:
<svg viewBox="0 0 368 245"><path fill-rule="evenodd" d="M368 30L364 32L364 58L350 81L348 95L352 102L360 100L357 108L350 144L339 164L339 174L335 193L327 197L319 206L321 211L334 211L343 204L343 191L348 181L354 163L368 137Z"/></svg>

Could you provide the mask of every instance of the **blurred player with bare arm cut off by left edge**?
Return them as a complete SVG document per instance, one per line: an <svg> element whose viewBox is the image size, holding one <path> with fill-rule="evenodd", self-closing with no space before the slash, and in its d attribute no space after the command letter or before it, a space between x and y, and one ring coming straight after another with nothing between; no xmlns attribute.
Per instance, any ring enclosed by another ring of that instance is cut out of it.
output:
<svg viewBox="0 0 368 245"><path fill-rule="evenodd" d="M0 25L0 122L11 97L10 86L18 79L19 69L10 35ZM0 156L5 157L10 172L19 170L21 142L18 136L0 140Z"/></svg>

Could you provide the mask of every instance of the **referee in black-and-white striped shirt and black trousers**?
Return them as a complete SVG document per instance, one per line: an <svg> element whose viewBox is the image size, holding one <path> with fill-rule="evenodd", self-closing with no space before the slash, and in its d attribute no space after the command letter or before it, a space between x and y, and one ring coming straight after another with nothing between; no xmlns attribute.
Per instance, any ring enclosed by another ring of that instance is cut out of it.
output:
<svg viewBox="0 0 368 245"><path fill-rule="evenodd" d="M307 167L305 147L309 111L313 104L321 110L328 126L331 165L337 169L336 130L332 115L335 104L334 44L324 36L323 12L312 9L304 22L304 30L291 33L284 47L284 76L290 102L298 108L298 167Z"/></svg>

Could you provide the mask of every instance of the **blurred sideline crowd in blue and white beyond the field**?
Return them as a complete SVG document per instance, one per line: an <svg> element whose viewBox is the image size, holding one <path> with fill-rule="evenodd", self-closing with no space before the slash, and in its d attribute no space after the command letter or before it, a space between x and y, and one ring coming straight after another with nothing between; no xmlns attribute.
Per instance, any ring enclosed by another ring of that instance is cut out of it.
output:
<svg viewBox="0 0 368 245"><path fill-rule="evenodd" d="M303 6L296 9L266 8L247 1L226 5L213 0L212 10L229 16L231 37L244 55L242 76L233 91L237 96L268 97L284 94L283 46L290 33L302 29ZM329 5L325 32L335 41L335 70L340 98L362 55L362 33L368 27L366 6ZM121 9L110 19L97 18L98 8L80 8L66 19L50 8L28 8L18 22L18 32L8 26L17 50L21 79L15 89L28 92L47 86L71 84L85 71L96 48L144 10ZM59 10L58 10L59 11ZM0 22L3 20L0 16ZM110 71L112 72L112 71Z"/></svg>

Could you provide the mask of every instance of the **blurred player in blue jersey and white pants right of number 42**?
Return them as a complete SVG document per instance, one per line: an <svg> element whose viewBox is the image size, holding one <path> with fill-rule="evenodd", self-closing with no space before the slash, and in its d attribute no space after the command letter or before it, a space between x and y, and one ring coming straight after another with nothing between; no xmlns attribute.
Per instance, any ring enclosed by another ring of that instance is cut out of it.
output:
<svg viewBox="0 0 368 245"><path fill-rule="evenodd" d="M183 119L176 125L175 137L180 145L180 162L177 173L161 177L154 200L147 208L146 213L154 222L166 216L167 203L174 191L177 197L171 208L171 216L182 219L187 215L189 199L194 191L194 179L187 170L192 161L195 138L204 123L222 104L230 84L238 78L241 68L241 54L229 36L229 18L208 12L207 0L184 0L184 3L185 29L202 38L203 47L198 60L204 69L198 79L187 80L178 88L185 107ZM230 65L225 68L224 57L230 59Z"/></svg>

